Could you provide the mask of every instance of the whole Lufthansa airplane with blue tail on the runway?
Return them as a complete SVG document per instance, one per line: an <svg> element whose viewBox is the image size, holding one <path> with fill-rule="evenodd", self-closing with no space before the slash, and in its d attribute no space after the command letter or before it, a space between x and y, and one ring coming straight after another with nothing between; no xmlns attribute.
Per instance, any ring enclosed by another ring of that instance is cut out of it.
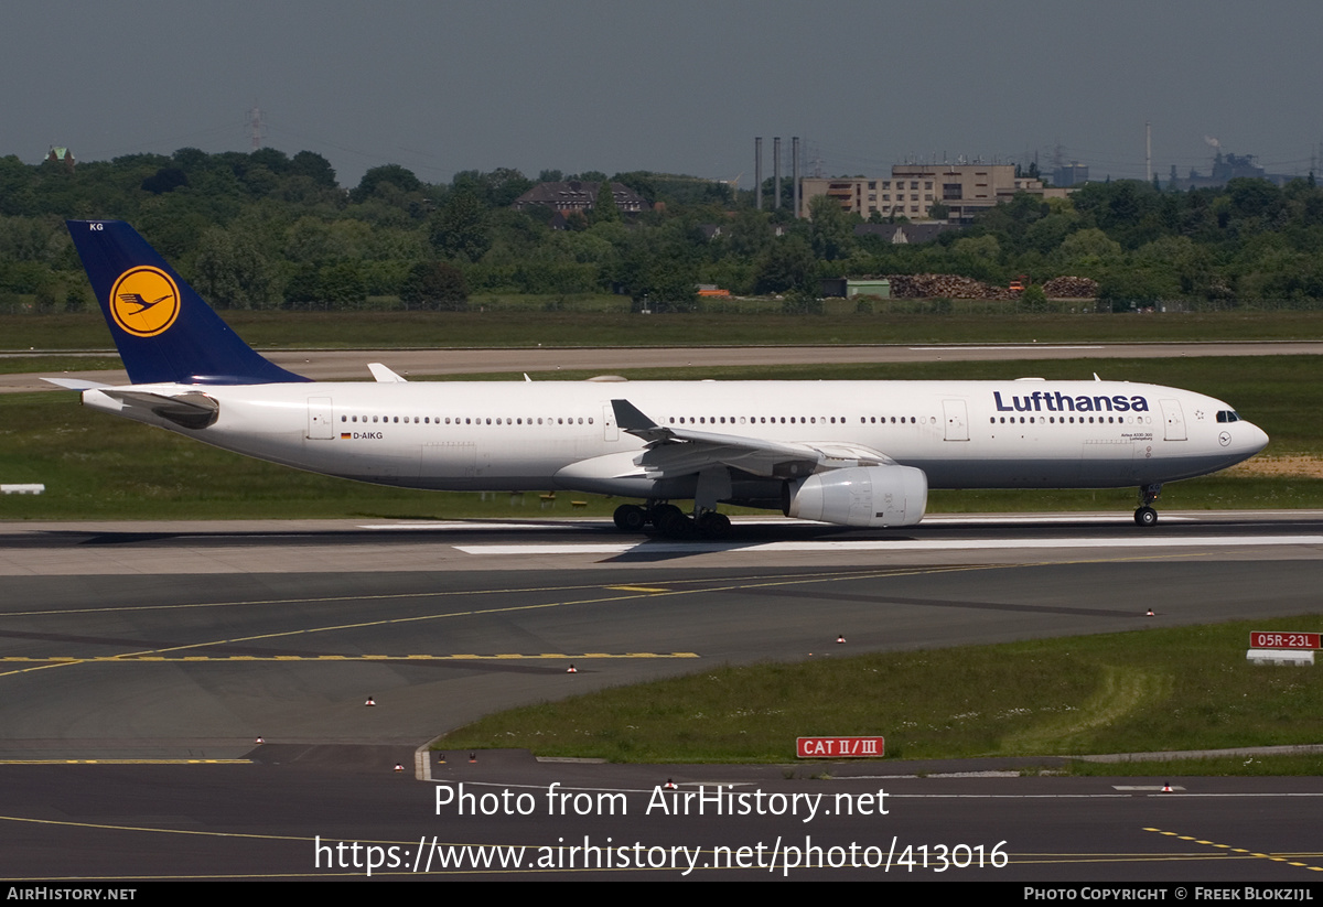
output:
<svg viewBox="0 0 1323 907"><path fill-rule="evenodd" d="M615 510L624 532L724 538L720 504L912 526L929 488L1127 485L1139 488L1135 522L1152 526L1164 483L1267 444L1212 397L1097 374L470 383L409 382L374 362L374 382L312 382L245 344L127 223L67 226L131 381L48 378L85 406L382 485L638 498Z"/></svg>

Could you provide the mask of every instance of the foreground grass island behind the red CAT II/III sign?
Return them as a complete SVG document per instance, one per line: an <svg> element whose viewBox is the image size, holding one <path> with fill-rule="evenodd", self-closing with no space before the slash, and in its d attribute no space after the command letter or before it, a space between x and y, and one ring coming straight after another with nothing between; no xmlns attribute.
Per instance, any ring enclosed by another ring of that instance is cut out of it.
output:
<svg viewBox="0 0 1323 907"><path fill-rule="evenodd" d="M889 759L1318 743L1323 678L1311 669L1250 665L1245 649L1252 629L1315 628L1320 620L1323 615L1306 615L718 666L504 711L435 746L639 763L781 763L792 759L796 736L841 729L885 735ZM1303 771L1323 767L1314 756L1290 759ZM1192 762L1200 773L1209 769L1208 760ZM1218 771L1253 764L1245 758L1217 763ZM1125 771L1179 768L1159 763ZM1115 773L1118 767L1076 771Z"/></svg>

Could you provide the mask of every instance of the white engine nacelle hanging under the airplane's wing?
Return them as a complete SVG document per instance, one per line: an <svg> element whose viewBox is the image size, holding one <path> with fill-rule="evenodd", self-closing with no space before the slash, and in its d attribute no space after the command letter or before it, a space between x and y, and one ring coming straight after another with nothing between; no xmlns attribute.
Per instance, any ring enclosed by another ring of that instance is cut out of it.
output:
<svg viewBox="0 0 1323 907"><path fill-rule="evenodd" d="M786 483L785 512L839 526L913 526L927 509L927 476L914 467L853 467Z"/></svg>

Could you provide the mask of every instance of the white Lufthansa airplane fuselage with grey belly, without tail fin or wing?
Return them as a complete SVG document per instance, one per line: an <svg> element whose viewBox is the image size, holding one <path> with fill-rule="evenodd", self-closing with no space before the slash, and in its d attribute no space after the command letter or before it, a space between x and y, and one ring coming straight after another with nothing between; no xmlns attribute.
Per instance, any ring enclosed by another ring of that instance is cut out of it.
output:
<svg viewBox="0 0 1323 907"><path fill-rule="evenodd" d="M116 389L124 390L124 389ZM345 479L454 491L692 497L632 468L644 443L615 423L626 399L656 424L860 448L922 469L933 488L1105 488L1216 472L1267 436L1226 403L1155 385L1080 381L384 382L149 385L204 393L214 424L184 428L98 390L86 405L263 460ZM765 501L770 476L726 500Z"/></svg>

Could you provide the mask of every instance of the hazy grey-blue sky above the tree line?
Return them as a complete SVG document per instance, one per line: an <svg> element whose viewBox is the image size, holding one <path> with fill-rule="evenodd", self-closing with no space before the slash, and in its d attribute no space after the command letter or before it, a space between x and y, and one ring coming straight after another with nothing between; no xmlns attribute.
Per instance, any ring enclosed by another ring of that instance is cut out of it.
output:
<svg viewBox="0 0 1323 907"><path fill-rule="evenodd" d="M0 155L315 151L344 186L1078 160L1093 178L1323 156L1318 0L42 0L8 4ZM1060 151L1058 151L1060 148Z"/></svg>

